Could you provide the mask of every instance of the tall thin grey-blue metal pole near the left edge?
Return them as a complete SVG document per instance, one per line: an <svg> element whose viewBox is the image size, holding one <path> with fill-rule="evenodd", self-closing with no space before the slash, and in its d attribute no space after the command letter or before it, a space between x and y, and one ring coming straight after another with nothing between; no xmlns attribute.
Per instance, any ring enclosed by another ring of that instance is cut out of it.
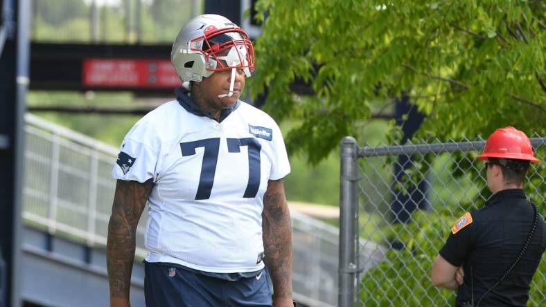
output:
<svg viewBox="0 0 546 307"><path fill-rule="evenodd" d="M13 250L11 275L11 306L21 306L21 198L23 191L24 115L28 89L28 63L30 59L30 0L19 0L17 18L17 102L15 106L15 176L13 192Z"/></svg>

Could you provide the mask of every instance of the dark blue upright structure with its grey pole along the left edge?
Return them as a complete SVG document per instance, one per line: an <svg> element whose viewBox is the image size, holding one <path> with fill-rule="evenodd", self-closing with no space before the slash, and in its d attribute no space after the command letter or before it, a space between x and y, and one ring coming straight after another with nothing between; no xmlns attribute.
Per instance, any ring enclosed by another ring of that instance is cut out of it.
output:
<svg viewBox="0 0 546 307"><path fill-rule="evenodd" d="M0 1L0 306L19 306L22 115L28 86L29 1Z"/></svg>

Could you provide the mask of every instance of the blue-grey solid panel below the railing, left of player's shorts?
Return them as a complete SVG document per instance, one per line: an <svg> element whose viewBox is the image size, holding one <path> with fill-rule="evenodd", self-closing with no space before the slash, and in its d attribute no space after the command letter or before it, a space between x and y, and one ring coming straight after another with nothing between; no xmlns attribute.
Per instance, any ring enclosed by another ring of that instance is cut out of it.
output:
<svg viewBox="0 0 546 307"><path fill-rule="evenodd" d="M24 227L21 298L42 306L108 306L104 248ZM144 304L144 266L135 261L131 304Z"/></svg>

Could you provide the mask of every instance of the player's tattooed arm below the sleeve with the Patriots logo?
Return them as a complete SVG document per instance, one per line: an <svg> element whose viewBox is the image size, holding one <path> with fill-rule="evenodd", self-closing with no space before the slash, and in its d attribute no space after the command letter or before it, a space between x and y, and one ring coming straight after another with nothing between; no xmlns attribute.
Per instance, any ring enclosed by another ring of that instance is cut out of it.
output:
<svg viewBox="0 0 546 307"><path fill-rule="evenodd" d="M110 287L110 306L130 306L129 290L136 249L136 226L153 187L146 183L118 180L108 223L106 266Z"/></svg>

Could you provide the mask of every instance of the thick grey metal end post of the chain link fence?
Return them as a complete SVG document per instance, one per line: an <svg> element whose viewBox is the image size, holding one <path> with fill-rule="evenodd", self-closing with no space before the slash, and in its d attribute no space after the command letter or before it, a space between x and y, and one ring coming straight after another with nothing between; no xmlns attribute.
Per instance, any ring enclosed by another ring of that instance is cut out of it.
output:
<svg viewBox="0 0 546 307"><path fill-rule="evenodd" d="M356 273L356 223L358 209L356 140L346 136L341 141L340 167L340 263L338 306L353 307L355 304Z"/></svg>

